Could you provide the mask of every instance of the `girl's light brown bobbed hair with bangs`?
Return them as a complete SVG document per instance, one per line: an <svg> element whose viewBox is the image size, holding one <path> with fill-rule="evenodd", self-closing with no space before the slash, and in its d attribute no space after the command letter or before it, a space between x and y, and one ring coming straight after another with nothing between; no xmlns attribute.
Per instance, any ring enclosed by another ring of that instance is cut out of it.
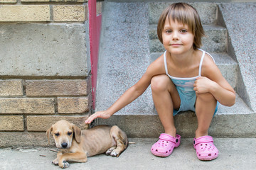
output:
<svg viewBox="0 0 256 170"><path fill-rule="evenodd" d="M163 43L162 30L164 29L166 18L188 26L188 29L190 29L194 35L194 50L202 45L201 39L205 33L198 12L193 6L186 3L174 3L164 9L157 26L157 35L161 43Z"/></svg>

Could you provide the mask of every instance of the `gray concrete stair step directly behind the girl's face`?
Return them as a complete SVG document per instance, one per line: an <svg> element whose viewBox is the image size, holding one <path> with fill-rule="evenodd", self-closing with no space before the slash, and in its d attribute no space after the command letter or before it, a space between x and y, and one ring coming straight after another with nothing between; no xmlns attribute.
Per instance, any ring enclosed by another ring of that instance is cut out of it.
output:
<svg viewBox="0 0 256 170"><path fill-rule="evenodd" d="M156 25L149 26L150 52L163 52L164 46L157 38ZM206 37L202 39L202 48L207 52L225 52L227 30L221 26L203 25Z"/></svg>

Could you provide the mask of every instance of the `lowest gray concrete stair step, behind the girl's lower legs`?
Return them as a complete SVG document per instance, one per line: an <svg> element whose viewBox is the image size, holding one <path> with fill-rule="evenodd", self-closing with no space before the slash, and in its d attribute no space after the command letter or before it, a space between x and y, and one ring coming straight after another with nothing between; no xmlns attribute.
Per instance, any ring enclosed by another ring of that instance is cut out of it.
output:
<svg viewBox="0 0 256 170"><path fill-rule="evenodd" d="M256 113L237 95L234 106L225 107L219 105L218 112L215 114L209 128L209 135L215 137L250 137L255 134ZM174 117L177 133L183 137L194 137L197 128L195 113L187 111ZM124 110L115 113L107 120L97 119L97 125L118 125L127 132L128 137L159 137L164 129L159 117L151 108L150 113L127 114Z"/></svg>

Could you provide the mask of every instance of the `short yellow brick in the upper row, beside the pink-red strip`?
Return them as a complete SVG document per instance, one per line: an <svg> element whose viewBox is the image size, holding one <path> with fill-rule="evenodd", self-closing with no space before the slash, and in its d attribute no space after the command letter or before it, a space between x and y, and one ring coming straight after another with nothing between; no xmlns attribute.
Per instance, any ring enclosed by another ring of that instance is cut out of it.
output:
<svg viewBox="0 0 256 170"><path fill-rule="evenodd" d="M86 19L85 6L53 6L53 21L84 22Z"/></svg>

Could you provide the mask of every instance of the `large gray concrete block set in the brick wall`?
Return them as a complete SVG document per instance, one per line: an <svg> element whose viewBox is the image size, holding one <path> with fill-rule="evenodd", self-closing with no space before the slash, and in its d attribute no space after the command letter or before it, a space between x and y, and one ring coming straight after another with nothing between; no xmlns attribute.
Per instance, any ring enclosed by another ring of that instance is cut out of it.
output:
<svg viewBox="0 0 256 170"><path fill-rule="evenodd" d="M1 23L0 76L87 77L85 25Z"/></svg>

